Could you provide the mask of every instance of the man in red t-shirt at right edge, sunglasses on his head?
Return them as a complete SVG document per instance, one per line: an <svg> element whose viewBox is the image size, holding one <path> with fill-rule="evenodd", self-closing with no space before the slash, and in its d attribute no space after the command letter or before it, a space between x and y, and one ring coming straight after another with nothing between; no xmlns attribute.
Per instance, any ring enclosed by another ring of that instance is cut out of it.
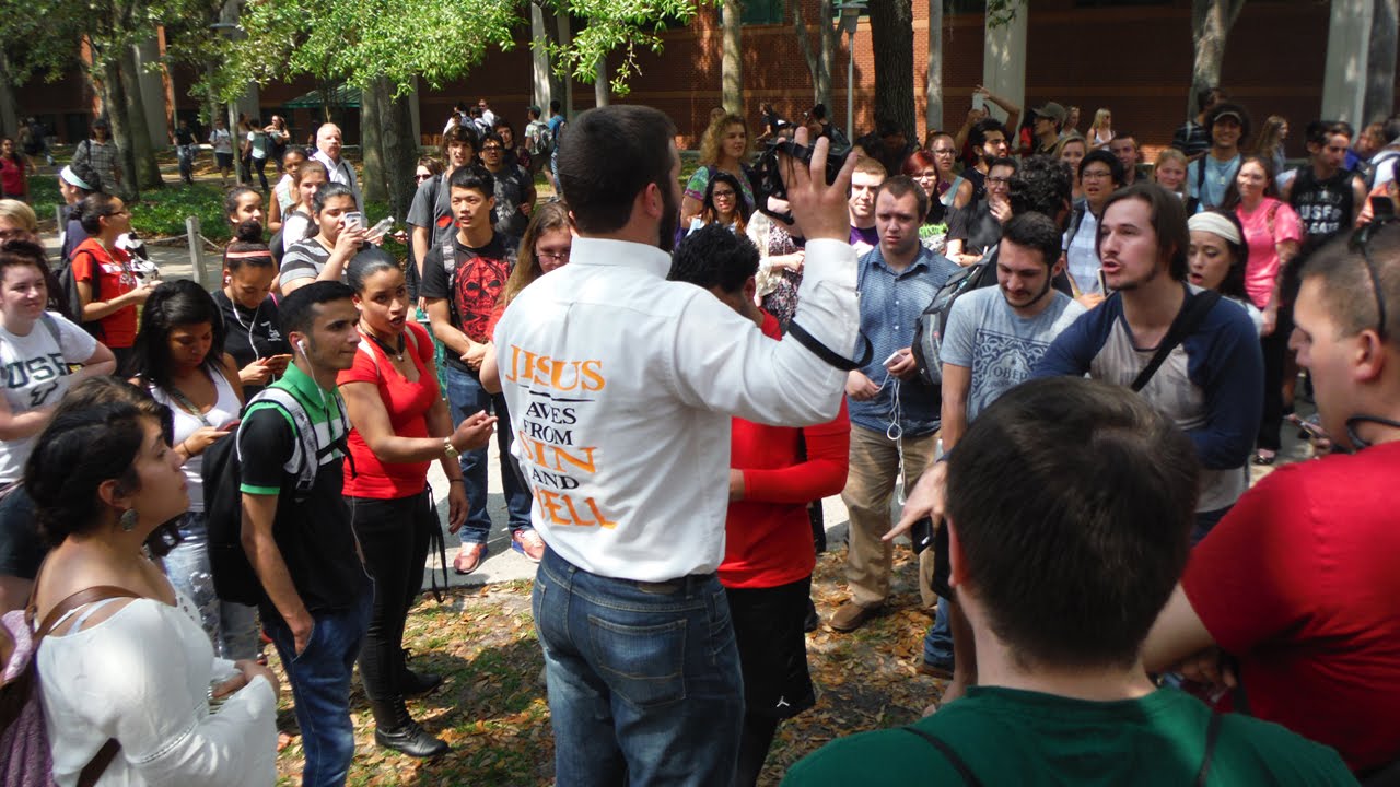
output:
<svg viewBox="0 0 1400 787"><path fill-rule="evenodd" d="M1400 767L1400 225L1373 232L1365 253L1333 244L1308 262L1289 342L1350 455L1240 497L1145 650L1148 669L1242 689L1236 710L1336 748L1361 777Z"/></svg>

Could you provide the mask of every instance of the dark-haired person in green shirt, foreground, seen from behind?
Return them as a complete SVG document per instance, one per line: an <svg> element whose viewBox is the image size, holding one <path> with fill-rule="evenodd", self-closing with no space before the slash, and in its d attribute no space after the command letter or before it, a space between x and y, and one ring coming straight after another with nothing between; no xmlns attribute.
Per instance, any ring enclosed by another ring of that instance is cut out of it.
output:
<svg viewBox="0 0 1400 787"><path fill-rule="evenodd" d="M783 784L1355 784L1333 749L1215 716L1142 669L1186 564L1198 473L1186 434L1121 386L1008 391L902 522L941 514L946 483L948 581L979 685L910 727L826 745Z"/></svg>

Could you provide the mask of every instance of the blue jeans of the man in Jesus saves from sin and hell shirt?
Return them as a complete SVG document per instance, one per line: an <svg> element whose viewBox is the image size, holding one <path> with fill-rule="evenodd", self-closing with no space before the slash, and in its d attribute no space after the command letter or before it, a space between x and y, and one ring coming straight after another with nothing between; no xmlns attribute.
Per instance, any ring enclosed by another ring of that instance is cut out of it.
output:
<svg viewBox="0 0 1400 787"><path fill-rule="evenodd" d="M743 678L714 574L615 580L546 549L532 604L559 784L734 781Z"/></svg>

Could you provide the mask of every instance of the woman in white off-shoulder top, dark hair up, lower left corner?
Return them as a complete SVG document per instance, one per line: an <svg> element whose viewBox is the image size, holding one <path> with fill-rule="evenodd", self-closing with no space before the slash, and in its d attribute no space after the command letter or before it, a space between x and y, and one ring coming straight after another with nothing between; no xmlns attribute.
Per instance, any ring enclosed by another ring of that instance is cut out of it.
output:
<svg viewBox="0 0 1400 787"><path fill-rule="evenodd" d="M276 780L277 679L253 661L214 658L193 605L146 552L153 532L189 507L169 429L169 413L140 389L85 381L60 403L25 472L53 545L35 620L87 588L127 594L76 608L39 644L60 787L77 784L109 739L119 749L98 786Z"/></svg>

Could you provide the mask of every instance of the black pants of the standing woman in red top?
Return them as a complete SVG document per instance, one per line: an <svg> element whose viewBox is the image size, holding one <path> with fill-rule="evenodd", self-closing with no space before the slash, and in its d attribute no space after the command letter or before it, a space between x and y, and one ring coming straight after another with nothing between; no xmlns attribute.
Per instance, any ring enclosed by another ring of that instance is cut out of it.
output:
<svg viewBox="0 0 1400 787"><path fill-rule="evenodd" d="M370 630L360 647L360 678L372 700L402 695L403 623L419 590L428 538L438 527L428 490L410 497L347 497L350 525L360 539L365 570L374 577Z"/></svg>

